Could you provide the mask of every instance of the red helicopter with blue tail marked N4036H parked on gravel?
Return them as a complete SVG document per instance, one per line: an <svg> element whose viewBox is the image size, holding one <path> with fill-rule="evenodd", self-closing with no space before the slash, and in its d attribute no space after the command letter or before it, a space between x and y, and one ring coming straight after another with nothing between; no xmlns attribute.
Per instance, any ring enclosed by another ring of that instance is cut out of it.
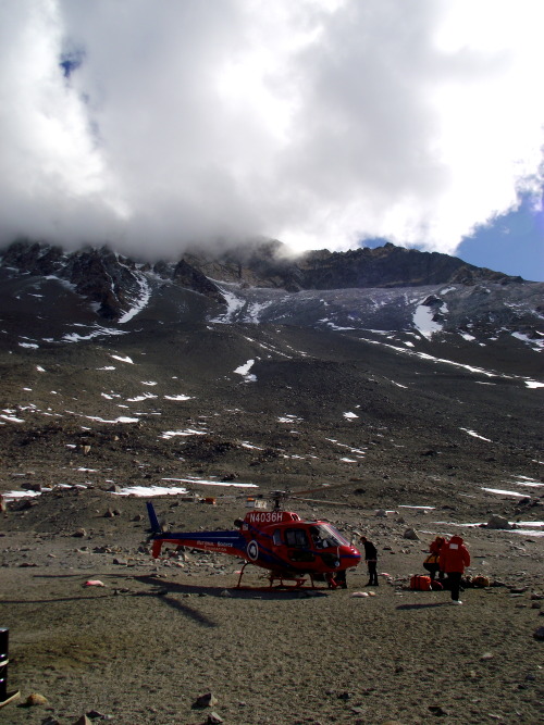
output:
<svg viewBox="0 0 544 725"><path fill-rule="evenodd" d="M164 543L173 543L237 557L245 560L237 588L248 564L270 572L270 587L279 582L281 588L299 588L306 576L312 588L314 580L324 580L330 588L345 587L345 572L357 566L360 552L331 524L302 521L297 513L284 511L281 502L286 497L286 491L274 491L272 511L248 512L244 520L234 522L237 530L233 532L165 532L148 501L152 555L157 559Z"/></svg>

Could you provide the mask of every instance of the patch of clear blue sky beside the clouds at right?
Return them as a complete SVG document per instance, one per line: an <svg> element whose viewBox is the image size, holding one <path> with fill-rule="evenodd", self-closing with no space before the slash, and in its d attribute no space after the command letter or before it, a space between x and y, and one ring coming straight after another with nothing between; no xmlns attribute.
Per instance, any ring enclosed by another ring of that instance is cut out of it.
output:
<svg viewBox="0 0 544 725"><path fill-rule="evenodd" d="M465 237L456 257L477 266L544 282L543 204L535 209L531 197L522 197L517 210Z"/></svg>

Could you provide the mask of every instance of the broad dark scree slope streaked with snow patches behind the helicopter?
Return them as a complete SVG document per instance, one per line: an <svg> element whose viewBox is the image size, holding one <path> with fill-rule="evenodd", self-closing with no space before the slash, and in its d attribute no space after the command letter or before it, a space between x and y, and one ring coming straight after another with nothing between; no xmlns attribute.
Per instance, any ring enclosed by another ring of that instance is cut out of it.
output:
<svg viewBox="0 0 544 725"><path fill-rule="evenodd" d="M188 261L15 251L0 268L4 489L341 484L356 505L542 518L542 284L483 271L289 292Z"/></svg>

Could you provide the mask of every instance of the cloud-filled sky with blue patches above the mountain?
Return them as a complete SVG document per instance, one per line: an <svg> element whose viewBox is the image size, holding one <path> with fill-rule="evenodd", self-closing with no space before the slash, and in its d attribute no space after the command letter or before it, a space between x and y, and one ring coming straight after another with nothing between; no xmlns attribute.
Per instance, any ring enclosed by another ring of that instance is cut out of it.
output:
<svg viewBox="0 0 544 725"><path fill-rule="evenodd" d="M544 279L542 0L0 0L0 243Z"/></svg>

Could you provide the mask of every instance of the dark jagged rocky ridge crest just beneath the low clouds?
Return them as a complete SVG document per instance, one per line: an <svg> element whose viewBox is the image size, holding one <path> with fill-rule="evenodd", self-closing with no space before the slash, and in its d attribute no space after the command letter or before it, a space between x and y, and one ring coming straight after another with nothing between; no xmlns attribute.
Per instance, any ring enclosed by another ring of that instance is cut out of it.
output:
<svg viewBox="0 0 544 725"><path fill-rule="evenodd" d="M120 255L108 247L65 252L60 247L30 240L11 243L1 254L2 266L36 276L59 275L78 293L99 304L103 317L121 316L125 293L134 277L152 272L188 289L221 299L211 280L237 282L289 292L309 289L387 288L479 282L523 283L521 277L475 267L438 252L408 250L387 242L374 249L346 252L311 251L288 255L282 242L271 240L215 254L187 251L177 262L154 263Z"/></svg>

